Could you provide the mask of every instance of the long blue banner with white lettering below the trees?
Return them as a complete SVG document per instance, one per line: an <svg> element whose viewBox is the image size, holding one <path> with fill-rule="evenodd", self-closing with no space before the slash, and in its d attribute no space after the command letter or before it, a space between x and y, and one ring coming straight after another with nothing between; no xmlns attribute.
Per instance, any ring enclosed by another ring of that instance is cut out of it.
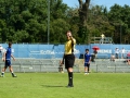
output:
<svg viewBox="0 0 130 98"><path fill-rule="evenodd" d="M1 44L3 48L8 47L8 44ZM110 58L112 53L115 53L115 49L121 50L125 48L127 56L130 52L130 45L113 45L113 44L91 44L91 45L76 45L75 56L76 58L82 58L84 50L88 48L90 53L93 53L93 47L98 46L98 58ZM38 59L51 59L62 58L64 53L64 45L31 45L31 44L13 44L12 51L15 58L38 58ZM121 53L119 53L119 58Z"/></svg>

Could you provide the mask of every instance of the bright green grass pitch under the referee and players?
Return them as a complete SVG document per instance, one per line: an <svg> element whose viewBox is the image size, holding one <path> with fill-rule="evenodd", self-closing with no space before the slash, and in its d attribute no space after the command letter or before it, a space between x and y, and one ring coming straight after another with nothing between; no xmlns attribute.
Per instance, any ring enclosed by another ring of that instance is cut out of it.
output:
<svg viewBox="0 0 130 98"><path fill-rule="evenodd" d="M129 73L74 73L67 88L67 73L16 73L0 77L0 98L129 98Z"/></svg>

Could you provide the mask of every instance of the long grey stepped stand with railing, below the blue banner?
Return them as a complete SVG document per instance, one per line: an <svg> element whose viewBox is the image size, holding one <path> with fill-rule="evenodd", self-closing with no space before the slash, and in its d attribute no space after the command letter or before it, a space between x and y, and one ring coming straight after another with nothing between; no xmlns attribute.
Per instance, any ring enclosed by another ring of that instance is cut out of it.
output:
<svg viewBox="0 0 130 98"><path fill-rule="evenodd" d="M60 72L60 60L62 59L35 59L35 58L16 58L12 61L14 72ZM0 60L0 70L4 66L4 62ZM109 59L95 59L91 62L90 70L92 73L110 72L110 73L129 73L130 65L125 62L125 59L116 59L112 62ZM63 66L63 71L66 70ZM74 72L83 72L82 59L76 59ZM9 70L6 70L9 72Z"/></svg>

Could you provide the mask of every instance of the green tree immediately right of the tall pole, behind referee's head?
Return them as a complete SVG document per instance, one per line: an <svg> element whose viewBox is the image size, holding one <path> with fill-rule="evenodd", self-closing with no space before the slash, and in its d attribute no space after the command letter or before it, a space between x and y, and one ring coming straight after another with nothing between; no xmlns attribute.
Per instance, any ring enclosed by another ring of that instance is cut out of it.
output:
<svg viewBox="0 0 130 98"><path fill-rule="evenodd" d="M51 16L50 16L50 42L63 44L66 39L64 36L66 30L70 29L68 13L69 8L62 0L51 0Z"/></svg>

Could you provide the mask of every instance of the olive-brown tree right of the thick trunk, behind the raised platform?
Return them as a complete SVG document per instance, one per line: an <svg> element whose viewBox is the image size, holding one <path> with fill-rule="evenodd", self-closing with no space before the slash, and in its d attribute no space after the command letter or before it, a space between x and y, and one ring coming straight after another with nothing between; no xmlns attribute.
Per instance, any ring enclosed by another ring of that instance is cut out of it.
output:
<svg viewBox="0 0 130 98"><path fill-rule="evenodd" d="M107 9L103 5L94 5L90 8L88 17L90 39L91 37L100 37L101 34L104 34L106 37L113 37L114 26L109 24L107 15Z"/></svg>

